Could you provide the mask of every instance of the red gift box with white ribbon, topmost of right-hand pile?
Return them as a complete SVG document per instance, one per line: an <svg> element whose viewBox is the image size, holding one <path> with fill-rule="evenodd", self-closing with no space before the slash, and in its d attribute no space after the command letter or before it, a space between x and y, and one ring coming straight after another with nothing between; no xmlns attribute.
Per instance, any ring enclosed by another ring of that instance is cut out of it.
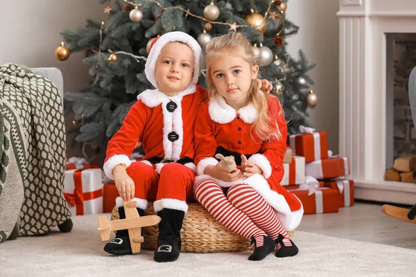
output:
<svg viewBox="0 0 416 277"><path fill-rule="evenodd" d="M305 157L305 162L328 158L328 142L326 132L310 134L292 134L288 136L293 155Z"/></svg>

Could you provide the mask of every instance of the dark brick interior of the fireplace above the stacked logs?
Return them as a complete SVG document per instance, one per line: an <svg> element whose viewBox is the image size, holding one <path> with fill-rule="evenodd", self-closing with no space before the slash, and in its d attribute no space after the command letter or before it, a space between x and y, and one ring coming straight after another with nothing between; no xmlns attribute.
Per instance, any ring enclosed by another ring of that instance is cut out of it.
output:
<svg viewBox="0 0 416 277"><path fill-rule="evenodd" d="M410 111L408 79L416 66L416 34L393 34L394 159L416 154L416 129Z"/></svg>

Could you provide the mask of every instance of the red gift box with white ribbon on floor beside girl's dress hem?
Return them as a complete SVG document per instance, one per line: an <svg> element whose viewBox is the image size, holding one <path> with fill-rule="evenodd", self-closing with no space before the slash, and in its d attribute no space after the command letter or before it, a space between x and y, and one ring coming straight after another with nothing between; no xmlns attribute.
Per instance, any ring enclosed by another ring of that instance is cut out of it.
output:
<svg viewBox="0 0 416 277"><path fill-rule="evenodd" d="M300 199L300 202L304 206L305 215L314 213L338 213L338 189L318 188L312 194L309 190L303 188L289 191Z"/></svg>

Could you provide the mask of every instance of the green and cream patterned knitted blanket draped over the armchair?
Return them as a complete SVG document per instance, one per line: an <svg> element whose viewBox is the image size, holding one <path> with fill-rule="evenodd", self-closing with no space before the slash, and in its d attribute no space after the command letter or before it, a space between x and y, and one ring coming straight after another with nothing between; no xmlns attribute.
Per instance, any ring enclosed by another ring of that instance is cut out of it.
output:
<svg viewBox="0 0 416 277"><path fill-rule="evenodd" d="M0 66L0 242L17 231L47 233L71 216L65 143L55 85L24 66Z"/></svg>

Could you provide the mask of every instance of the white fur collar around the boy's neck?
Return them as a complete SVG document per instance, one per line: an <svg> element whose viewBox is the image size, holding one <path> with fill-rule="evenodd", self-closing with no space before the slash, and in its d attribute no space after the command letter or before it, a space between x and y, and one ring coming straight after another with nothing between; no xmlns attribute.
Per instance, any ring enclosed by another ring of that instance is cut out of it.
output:
<svg viewBox="0 0 416 277"><path fill-rule="evenodd" d="M175 102L180 102L182 97L187 96L188 94L195 93L196 85L189 84L189 86L177 93L175 96L167 96L165 93L158 91L157 89L146 89L137 96L137 99L141 100L147 107L154 108L160 105L162 102L169 102L170 99Z"/></svg>

